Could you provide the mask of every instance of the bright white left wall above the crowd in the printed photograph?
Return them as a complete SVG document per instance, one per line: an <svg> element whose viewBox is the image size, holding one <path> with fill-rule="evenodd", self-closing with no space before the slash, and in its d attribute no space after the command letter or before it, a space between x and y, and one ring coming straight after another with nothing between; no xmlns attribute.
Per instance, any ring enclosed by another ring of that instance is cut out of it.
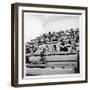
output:
<svg viewBox="0 0 90 90"><path fill-rule="evenodd" d="M36 37L42 35L44 33L43 30L43 21L36 16L30 14L24 14L24 34L25 34L25 42L28 42L32 39L36 39ZM36 32L37 30L37 32ZM33 33L34 32L34 33Z"/></svg>

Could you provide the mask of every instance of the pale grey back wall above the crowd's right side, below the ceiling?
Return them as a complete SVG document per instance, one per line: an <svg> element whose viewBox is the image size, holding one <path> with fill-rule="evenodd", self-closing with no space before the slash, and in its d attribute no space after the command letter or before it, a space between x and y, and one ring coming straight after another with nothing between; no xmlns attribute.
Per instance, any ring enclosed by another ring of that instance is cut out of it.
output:
<svg viewBox="0 0 90 90"><path fill-rule="evenodd" d="M54 20L46 24L48 31L70 30L79 28L79 17L65 17L60 20Z"/></svg>

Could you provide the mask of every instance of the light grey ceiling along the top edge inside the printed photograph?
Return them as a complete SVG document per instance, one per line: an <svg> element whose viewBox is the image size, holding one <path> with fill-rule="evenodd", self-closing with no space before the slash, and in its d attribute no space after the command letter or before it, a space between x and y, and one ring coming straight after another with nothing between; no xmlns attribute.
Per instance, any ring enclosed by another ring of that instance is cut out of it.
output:
<svg viewBox="0 0 90 90"><path fill-rule="evenodd" d="M29 16L41 19L43 22L51 22L55 20L61 20L69 17L78 17L76 15L67 15L67 14L41 14L41 13L27 13Z"/></svg>

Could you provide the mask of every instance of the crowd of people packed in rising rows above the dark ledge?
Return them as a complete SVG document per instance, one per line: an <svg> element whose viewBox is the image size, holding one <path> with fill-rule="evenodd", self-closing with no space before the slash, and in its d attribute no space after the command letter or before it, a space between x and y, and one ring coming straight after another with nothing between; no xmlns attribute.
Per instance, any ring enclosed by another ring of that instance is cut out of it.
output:
<svg viewBox="0 0 90 90"><path fill-rule="evenodd" d="M48 32L26 43L26 53L40 54L79 51L79 29Z"/></svg>

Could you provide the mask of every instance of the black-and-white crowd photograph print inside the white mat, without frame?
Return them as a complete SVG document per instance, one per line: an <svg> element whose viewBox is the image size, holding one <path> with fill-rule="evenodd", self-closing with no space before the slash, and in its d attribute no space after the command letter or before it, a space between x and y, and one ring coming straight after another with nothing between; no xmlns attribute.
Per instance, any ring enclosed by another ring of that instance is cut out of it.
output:
<svg viewBox="0 0 90 90"><path fill-rule="evenodd" d="M26 76L80 72L80 15L24 13Z"/></svg>

